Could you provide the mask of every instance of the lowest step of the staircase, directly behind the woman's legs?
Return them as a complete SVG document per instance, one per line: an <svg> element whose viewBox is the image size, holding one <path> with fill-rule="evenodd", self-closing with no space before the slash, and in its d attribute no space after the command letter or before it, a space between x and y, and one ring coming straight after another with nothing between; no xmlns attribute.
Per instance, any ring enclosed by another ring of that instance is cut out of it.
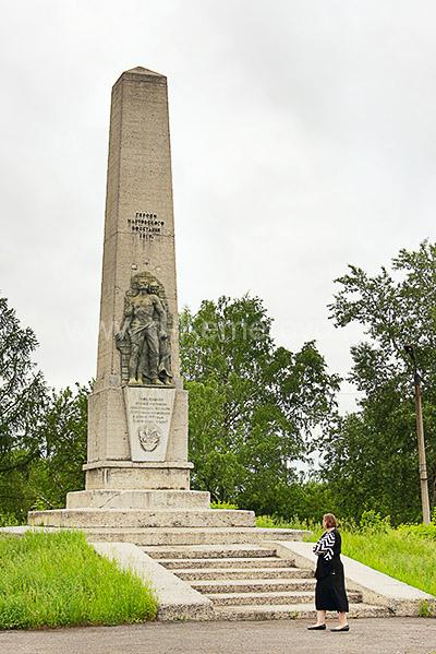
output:
<svg viewBox="0 0 436 654"><path fill-rule="evenodd" d="M328 613L328 618L337 618L336 613ZM385 618L390 616L388 608L371 604L350 604L349 617L351 618ZM217 606L215 608L217 620L292 620L300 618L315 618L316 611L312 604L277 604L255 606ZM331 625L334 626L334 623Z"/></svg>

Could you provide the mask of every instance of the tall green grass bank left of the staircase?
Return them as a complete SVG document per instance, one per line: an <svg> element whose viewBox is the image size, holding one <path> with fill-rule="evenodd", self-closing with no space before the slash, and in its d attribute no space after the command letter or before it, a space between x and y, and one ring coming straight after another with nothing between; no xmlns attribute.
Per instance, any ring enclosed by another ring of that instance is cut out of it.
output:
<svg viewBox="0 0 436 654"><path fill-rule="evenodd" d="M0 536L0 629L120 625L156 617L153 592L81 532Z"/></svg>

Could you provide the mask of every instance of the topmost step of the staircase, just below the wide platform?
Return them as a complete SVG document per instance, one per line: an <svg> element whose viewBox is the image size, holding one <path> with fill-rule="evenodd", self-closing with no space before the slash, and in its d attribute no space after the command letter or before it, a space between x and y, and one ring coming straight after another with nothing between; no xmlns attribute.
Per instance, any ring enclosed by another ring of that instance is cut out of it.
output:
<svg viewBox="0 0 436 654"><path fill-rule="evenodd" d="M276 559L276 550L270 547L258 547L256 545L182 545L179 547L143 547L145 554L154 559L174 560L189 559L201 560L201 559L221 559L222 561L235 561L244 558L250 559ZM220 562L221 564L221 562Z"/></svg>

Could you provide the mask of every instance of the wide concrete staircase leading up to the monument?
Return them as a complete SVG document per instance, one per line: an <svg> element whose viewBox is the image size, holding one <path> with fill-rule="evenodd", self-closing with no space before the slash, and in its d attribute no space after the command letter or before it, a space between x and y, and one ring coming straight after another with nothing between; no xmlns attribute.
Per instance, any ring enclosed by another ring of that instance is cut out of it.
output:
<svg viewBox="0 0 436 654"><path fill-rule="evenodd" d="M279 620L314 618L315 579L295 567L293 559L277 556L271 547L215 545L145 547L146 554L214 605L217 620ZM386 617L386 607L362 602L348 590L350 616Z"/></svg>

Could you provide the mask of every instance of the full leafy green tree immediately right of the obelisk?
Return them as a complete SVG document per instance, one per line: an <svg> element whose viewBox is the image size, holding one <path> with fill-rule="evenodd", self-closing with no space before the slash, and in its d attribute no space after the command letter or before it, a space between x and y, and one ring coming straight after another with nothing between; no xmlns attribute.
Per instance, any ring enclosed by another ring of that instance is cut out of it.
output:
<svg viewBox="0 0 436 654"><path fill-rule="evenodd" d="M216 501L284 515L314 428L329 421L339 379L313 342L277 347L259 298L205 300L181 314L193 486ZM293 511L295 513L295 511Z"/></svg>

